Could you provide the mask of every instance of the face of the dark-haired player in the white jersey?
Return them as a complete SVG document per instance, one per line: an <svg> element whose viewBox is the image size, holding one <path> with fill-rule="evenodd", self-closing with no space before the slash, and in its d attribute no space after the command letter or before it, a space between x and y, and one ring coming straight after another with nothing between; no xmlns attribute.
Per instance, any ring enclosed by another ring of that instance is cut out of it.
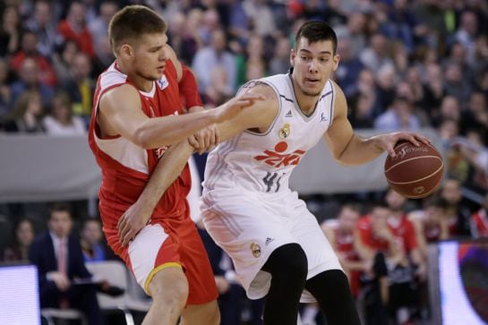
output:
<svg viewBox="0 0 488 325"><path fill-rule="evenodd" d="M307 38L300 38L290 56L295 85L306 96L319 96L330 73L338 68L338 60L339 56L333 53L332 41L310 44Z"/></svg>

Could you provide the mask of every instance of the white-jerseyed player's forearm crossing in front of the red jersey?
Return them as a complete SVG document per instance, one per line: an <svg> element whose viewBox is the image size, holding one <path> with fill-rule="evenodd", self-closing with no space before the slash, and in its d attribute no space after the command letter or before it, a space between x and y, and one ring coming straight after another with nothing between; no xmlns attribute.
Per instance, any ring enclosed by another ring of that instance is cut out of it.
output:
<svg viewBox="0 0 488 325"><path fill-rule="evenodd" d="M184 140L170 147L159 160L138 200L150 212L154 210L167 188L181 174L192 153L193 147Z"/></svg>

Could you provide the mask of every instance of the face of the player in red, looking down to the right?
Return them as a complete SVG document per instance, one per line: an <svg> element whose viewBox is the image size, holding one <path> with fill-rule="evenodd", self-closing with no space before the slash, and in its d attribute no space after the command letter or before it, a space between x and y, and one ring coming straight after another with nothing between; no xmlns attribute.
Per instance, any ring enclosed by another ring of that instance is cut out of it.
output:
<svg viewBox="0 0 488 325"><path fill-rule="evenodd" d="M166 60L167 36L164 33L143 35L134 47L134 71L143 79L160 79L165 72Z"/></svg>

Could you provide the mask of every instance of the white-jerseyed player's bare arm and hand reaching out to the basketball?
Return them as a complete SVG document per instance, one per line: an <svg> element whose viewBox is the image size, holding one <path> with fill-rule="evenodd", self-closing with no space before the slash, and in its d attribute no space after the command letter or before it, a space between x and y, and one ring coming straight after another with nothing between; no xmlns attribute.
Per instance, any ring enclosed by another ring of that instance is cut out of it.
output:
<svg viewBox="0 0 488 325"><path fill-rule="evenodd" d="M396 132L362 138L354 133L353 127L347 119L347 101L344 93L336 83L336 103L334 107L334 120L327 133L324 134L332 156L343 165L364 164L388 151L391 157L395 156L393 148L398 141L410 141L415 145L419 142L425 144L430 141L422 134L413 132Z"/></svg>

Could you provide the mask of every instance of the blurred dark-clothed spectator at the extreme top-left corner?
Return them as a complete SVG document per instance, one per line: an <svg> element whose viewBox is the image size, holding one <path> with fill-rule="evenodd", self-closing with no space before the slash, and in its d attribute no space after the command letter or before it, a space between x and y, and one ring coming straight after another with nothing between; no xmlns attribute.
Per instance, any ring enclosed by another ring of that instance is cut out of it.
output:
<svg viewBox="0 0 488 325"><path fill-rule="evenodd" d="M17 6L7 5L0 25L0 56L11 56L21 43L21 14Z"/></svg>

